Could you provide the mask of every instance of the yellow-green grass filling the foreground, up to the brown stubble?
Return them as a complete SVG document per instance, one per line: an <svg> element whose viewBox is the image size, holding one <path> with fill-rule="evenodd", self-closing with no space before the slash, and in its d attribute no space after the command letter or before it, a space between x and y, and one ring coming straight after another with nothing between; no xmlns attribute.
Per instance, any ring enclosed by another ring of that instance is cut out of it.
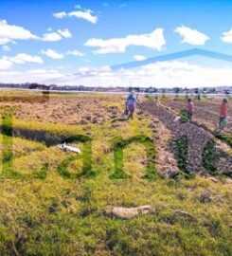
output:
<svg viewBox="0 0 232 256"><path fill-rule="evenodd" d="M153 160L157 154L151 152L147 138L152 138L150 121L135 118L116 128L109 121L85 130L13 119L16 128L64 137L88 135L93 172L81 175L82 155L13 138L12 168L21 177L0 179L0 255L231 255L231 184L198 175L178 180L144 178L155 171L150 169L153 162L146 169L148 156ZM116 137L125 146L120 170L126 175L119 179L111 176L116 171ZM84 150L84 143L77 145ZM202 203L205 191L211 200ZM104 213L107 206L141 205L152 205L154 212L132 220L112 219Z"/></svg>

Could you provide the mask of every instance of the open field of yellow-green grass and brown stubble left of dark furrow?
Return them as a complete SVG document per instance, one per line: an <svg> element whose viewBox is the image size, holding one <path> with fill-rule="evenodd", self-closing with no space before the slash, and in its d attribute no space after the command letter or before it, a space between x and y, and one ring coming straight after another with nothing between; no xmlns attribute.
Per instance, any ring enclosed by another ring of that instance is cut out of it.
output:
<svg viewBox="0 0 232 256"><path fill-rule="evenodd" d="M1 159L6 147L13 154L11 165L1 161L1 255L232 254L231 178L165 177L178 169L179 159L170 147L169 127L157 116L138 108L134 119L122 119L119 95L48 99L1 92L0 100L2 116L4 109L13 112L15 130L15 137L0 137ZM153 100L140 98L146 101ZM199 109L207 111L210 102L203 100ZM185 105L165 104L177 112ZM210 105L212 119L199 115L197 121L213 129L218 106ZM80 147L80 155L57 147L69 137L75 137L71 144ZM152 206L150 214L132 219L107 210L144 205Z"/></svg>

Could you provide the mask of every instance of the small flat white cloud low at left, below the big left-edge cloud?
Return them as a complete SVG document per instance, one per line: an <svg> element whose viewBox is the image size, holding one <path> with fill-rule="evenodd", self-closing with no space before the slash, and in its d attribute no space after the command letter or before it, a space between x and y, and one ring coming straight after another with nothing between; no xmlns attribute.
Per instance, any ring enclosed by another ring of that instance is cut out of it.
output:
<svg viewBox="0 0 232 256"><path fill-rule="evenodd" d="M4 59L12 64L44 64L40 56L32 56L27 53L19 53L14 57L5 56Z"/></svg>

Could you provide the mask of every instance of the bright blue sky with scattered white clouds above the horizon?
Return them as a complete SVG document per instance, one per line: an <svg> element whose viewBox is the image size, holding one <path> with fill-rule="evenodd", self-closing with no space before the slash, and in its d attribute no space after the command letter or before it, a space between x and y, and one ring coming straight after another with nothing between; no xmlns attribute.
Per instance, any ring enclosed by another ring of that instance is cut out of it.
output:
<svg viewBox="0 0 232 256"><path fill-rule="evenodd" d="M203 57L111 68L195 47L232 54L231 13L231 0L1 0L0 82L231 85L232 64Z"/></svg>

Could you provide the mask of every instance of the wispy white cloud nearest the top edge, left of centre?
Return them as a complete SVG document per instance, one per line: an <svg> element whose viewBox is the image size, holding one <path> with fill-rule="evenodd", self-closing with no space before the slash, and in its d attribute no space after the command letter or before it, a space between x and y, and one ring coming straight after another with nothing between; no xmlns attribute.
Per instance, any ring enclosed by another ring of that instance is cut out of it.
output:
<svg viewBox="0 0 232 256"><path fill-rule="evenodd" d="M77 10L72 10L70 12L60 11L53 13L53 16L57 19L63 19L65 17L76 17L88 21L90 23L96 24L98 22L98 16L94 14L91 9L81 9L80 6L77 6Z"/></svg>

